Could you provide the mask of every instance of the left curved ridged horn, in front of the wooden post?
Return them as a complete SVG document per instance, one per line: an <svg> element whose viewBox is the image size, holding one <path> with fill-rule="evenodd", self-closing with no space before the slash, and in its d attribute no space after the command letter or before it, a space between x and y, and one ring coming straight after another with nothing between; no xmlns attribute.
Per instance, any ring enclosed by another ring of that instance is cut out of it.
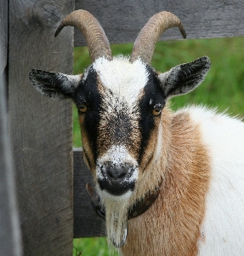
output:
<svg viewBox="0 0 244 256"><path fill-rule="evenodd" d="M82 32L87 40L90 57L93 62L102 56L109 61L112 60L111 48L105 31L100 26L99 21L88 11L78 9L67 15L57 28L55 37L65 26L75 26Z"/></svg>

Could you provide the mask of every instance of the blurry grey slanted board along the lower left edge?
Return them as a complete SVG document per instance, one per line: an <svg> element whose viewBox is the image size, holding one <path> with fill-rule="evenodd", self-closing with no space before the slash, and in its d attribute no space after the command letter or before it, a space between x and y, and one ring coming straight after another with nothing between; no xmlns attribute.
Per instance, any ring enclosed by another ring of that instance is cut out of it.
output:
<svg viewBox="0 0 244 256"><path fill-rule="evenodd" d="M0 54L1 56L1 54ZM7 83L0 77L0 255L22 255L7 113Z"/></svg>

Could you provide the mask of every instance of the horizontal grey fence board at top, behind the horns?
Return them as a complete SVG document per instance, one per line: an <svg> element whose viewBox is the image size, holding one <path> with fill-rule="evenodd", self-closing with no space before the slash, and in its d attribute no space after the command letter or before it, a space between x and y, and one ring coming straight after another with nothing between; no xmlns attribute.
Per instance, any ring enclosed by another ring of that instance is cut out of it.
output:
<svg viewBox="0 0 244 256"><path fill-rule="evenodd" d="M162 10L179 16L187 38L224 38L244 34L244 2L240 0L76 0L76 9L91 12L103 26L111 44L133 42L150 16ZM173 28L165 32L162 39L182 38L178 29ZM85 44L81 32L75 30L75 46Z"/></svg>

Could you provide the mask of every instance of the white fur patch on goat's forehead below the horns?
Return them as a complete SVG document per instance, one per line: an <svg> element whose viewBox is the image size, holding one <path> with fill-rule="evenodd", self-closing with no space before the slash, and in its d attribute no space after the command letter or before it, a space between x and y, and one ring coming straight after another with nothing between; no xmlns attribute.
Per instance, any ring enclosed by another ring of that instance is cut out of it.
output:
<svg viewBox="0 0 244 256"><path fill-rule="evenodd" d="M93 67L104 86L133 108L140 90L148 81L145 63L140 60L131 63L128 58L119 55L112 61L99 58L94 61Z"/></svg>

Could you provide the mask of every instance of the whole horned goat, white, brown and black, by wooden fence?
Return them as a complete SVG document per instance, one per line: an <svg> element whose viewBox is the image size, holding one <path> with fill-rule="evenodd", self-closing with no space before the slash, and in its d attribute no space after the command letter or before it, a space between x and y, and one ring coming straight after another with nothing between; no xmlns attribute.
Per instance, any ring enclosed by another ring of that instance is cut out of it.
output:
<svg viewBox="0 0 244 256"><path fill-rule="evenodd" d="M152 16L129 58L112 57L85 10L65 17L55 36L64 26L82 31L92 65L81 75L33 69L30 79L77 104L108 242L122 255L244 255L244 125L203 107L170 110L168 99L201 84L207 56L166 73L150 67L162 32L176 26L185 38L180 20Z"/></svg>

